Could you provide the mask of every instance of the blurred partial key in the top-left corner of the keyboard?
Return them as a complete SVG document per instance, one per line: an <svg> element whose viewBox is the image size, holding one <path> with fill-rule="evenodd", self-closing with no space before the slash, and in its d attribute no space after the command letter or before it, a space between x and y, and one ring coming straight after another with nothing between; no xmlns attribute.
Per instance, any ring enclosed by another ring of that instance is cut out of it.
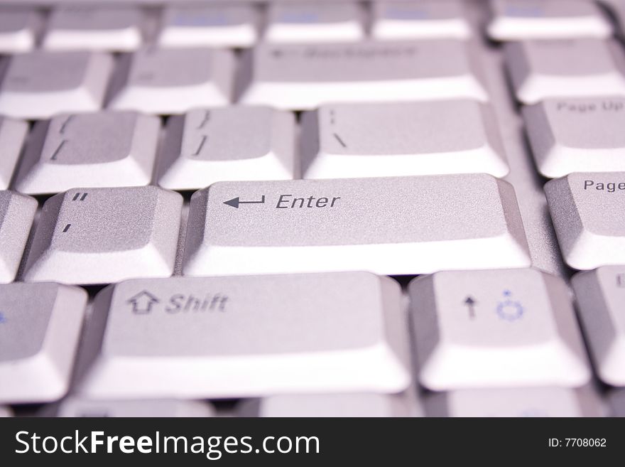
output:
<svg viewBox="0 0 625 467"><path fill-rule="evenodd" d="M33 50L41 18L33 9L9 8L0 10L0 53L20 53Z"/></svg>

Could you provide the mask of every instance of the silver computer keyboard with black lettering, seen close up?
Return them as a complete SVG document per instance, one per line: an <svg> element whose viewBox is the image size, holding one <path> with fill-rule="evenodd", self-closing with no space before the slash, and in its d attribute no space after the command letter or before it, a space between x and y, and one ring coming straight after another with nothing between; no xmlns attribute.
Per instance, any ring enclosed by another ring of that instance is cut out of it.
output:
<svg viewBox="0 0 625 467"><path fill-rule="evenodd" d="M0 0L0 417L625 415L623 0Z"/></svg>

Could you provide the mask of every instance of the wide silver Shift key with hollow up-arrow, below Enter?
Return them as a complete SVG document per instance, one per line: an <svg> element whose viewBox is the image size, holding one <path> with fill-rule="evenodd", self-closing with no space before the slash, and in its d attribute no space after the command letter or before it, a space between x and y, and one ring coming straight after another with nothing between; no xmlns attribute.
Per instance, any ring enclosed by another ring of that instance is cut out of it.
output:
<svg viewBox="0 0 625 467"><path fill-rule="evenodd" d="M399 392L398 284L361 272L136 279L94 303L77 392L95 399Z"/></svg>

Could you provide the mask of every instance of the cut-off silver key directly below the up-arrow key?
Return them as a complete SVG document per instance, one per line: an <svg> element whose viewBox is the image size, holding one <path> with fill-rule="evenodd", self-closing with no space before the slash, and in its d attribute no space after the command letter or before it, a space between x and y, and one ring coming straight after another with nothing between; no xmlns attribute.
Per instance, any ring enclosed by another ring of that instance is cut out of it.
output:
<svg viewBox="0 0 625 467"><path fill-rule="evenodd" d="M428 417L602 417L589 387L456 390L424 399Z"/></svg>

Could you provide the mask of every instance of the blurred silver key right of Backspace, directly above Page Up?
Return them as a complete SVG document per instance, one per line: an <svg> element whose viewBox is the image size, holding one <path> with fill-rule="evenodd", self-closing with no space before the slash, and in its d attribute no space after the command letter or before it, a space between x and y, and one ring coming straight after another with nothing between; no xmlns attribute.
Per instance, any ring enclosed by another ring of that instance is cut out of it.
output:
<svg viewBox="0 0 625 467"><path fill-rule="evenodd" d="M525 104L557 97L625 95L620 46L598 39L506 44L516 98Z"/></svg>

